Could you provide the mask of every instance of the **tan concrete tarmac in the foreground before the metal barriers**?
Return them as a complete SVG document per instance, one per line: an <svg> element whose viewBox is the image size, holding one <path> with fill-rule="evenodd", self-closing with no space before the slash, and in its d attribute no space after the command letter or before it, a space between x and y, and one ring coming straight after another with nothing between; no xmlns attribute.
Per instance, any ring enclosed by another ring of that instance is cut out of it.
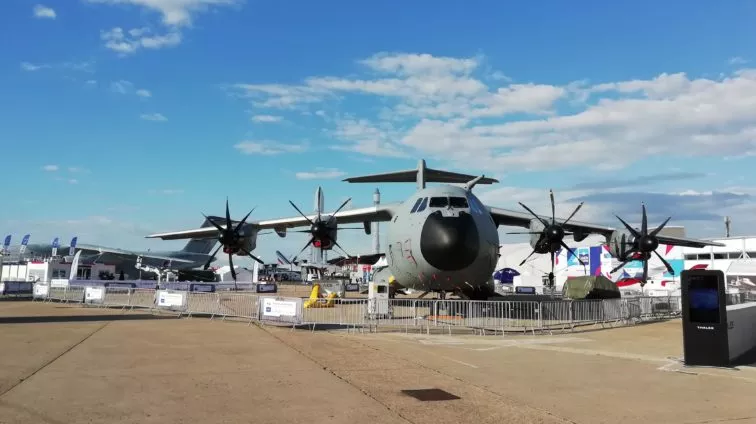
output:
<svg viewBox="0 0 756 424"><path fill-rule="evenodd" d="M0 302L0 423L756 423L756 368L684 368L680 333L346 334ZM460 399L401 392L431 388Z"/></svg>

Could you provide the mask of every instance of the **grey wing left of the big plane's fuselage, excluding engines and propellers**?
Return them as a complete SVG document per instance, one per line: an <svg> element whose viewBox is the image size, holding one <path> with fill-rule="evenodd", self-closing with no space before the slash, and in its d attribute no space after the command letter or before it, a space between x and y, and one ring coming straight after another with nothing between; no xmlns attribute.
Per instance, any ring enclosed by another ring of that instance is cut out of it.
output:
<svg viewBox="0 0 756 424"><path fill-rule="evenodd" d="M367 208L350 209L339 211L332 215L336 218L338 224L356 224L363 222L380 222L390 221L394 216L394 211L401 203L387 203L383 205L370 206ZM324 214L329 216L328 214ZM286 229L294 227L305 227L310 225L310 221L315 221L317 215L294 216L290 218L269 219L259 222L251 222L250 226L258 230L266 229ZM310 221L308 221L310 220ZM233 224L239 221L231 221ZM221 228L226 228L225 223L218 222ZM197 228L194 230L172 231L168 233L150 234L147 238L159 238L163 240L179 240L187 238L212 238L218 236L218 230L215 227Z"/></svg>

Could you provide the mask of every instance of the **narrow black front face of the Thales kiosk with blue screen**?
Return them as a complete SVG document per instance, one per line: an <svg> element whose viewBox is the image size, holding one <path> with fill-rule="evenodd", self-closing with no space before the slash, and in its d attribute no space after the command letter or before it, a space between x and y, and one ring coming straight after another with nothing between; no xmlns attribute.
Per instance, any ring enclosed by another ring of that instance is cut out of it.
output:
<svg viewBox="0 0 756 424"><path fill-rule="evenodd" d="M730 366L724 273L685 270L680 280L685 365Z"/></svg>

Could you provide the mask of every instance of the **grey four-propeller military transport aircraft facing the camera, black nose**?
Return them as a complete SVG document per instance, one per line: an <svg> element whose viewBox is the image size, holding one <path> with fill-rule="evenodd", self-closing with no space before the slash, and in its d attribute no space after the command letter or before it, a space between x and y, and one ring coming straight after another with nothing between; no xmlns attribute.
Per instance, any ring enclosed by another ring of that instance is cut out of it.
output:
<svg viewBox="0 0 756 424"><path fill-rule="evenodd" d="M499 209L484 205L472 189L477 184L498 182L485 176L465 175L427 168L425 160L419 160L417 169L347 178L349 183L416 182L417 191L404 202L381 204L366 208L341 211L323 215L304 215L293 203L300 216L247 223L251 214L241 221L232 221L226 201L226 223L213 223L215 228L200 228L152 234L147 238L175 240L185 238L218 238L229 259L241 254L259 260L251 252L257 244L260 230L273 229L280 237L293 227L309 226L310 241L321 249L339 246L339 224L363 223L364 231L370 234L371 223L388 222L386 258L399 285L419 290L454 293L464 299L485 300L495 296L492 273L499 258L498 226L528 228L533 252L552 255L559 248L569 249L564 243L565 235L582 241L589 234L604 235L615 258L621 263L642 260L647 263L659 244L703 247L720 246L703 240L671 237L660 234L665 221L653 231L648 231L645 206L642 228L639 230L622 222L624 230L571 221L580 209L566 220L554 217L554 200L551 195L552 216L535 214L520 203L527 212ZM427 183L445 183L426 187ZM461 186L451 184L462 184ZM619 218L619 217L617 217ZM343 249L342 249L343 250ZM574 254L574 252L573 252ZM660 256L659 256L660 257ZM672 267L664 261L670 272ZM552 270L553 272L553 270Z"/></svg>

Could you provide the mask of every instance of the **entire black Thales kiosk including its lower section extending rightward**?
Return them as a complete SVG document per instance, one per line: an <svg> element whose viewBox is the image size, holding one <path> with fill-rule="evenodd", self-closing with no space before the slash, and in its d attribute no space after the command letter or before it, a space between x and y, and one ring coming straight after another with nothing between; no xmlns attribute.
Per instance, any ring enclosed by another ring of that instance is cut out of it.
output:
<svg viewBox="0 0 756 424"><path fill-rule="evenodd" d="M756 302L727 305L719 270L685 270L681 283L685 365L756 362Z"/></svg>

